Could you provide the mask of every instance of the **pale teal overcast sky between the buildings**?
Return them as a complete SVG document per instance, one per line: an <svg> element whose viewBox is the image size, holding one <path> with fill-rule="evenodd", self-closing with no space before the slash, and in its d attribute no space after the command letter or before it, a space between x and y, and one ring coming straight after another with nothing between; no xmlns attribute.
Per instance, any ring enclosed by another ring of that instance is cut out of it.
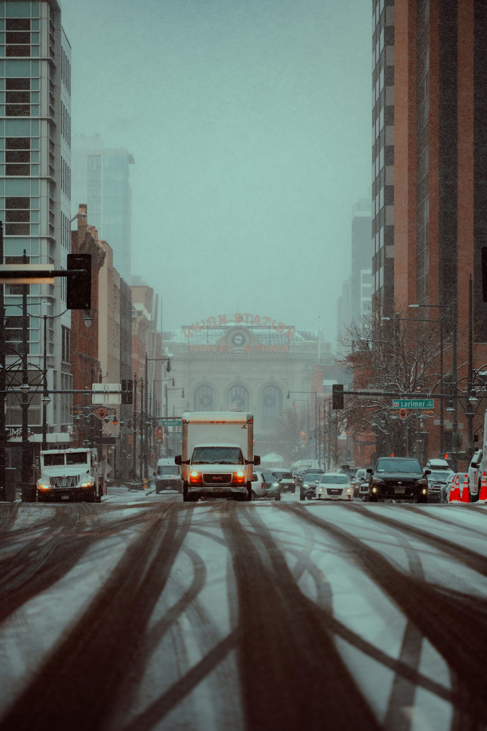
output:
<svg viewBox="0 0 487 731"><path fill-rule="evenodd" d="M164 329L235 311L336 338L370 195L369 0L61 0L72 134L127 148ZM89 219L89 212L88 212ZM110 241L109 241L110 243Z"/></svg>

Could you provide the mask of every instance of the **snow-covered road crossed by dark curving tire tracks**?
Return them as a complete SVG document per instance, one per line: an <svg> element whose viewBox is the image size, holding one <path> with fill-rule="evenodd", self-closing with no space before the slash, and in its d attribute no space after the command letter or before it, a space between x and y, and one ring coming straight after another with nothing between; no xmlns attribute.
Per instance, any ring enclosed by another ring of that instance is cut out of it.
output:
<svg viewBox="0 0 487 731"><path fill-rule="evenodd" d="M0 728L487 728L487 506L0 504Z"/></svg>

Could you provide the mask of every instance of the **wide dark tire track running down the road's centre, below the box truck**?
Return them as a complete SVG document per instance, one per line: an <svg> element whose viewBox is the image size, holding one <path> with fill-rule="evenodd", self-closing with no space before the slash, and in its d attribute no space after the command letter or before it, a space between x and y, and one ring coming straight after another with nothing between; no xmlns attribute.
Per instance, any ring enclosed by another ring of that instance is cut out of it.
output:
<svg viewBox="0 0 487 731"><path fill-rule="evenodd" d="M323 722L337 731L378 730L323 627L320 608L299 590L255 508L248 506L245 519L258 531L256 538L242 527L239 513L235 504L222 505L221 527L237 584L237 652L248 730L321 731Z"/></svg>

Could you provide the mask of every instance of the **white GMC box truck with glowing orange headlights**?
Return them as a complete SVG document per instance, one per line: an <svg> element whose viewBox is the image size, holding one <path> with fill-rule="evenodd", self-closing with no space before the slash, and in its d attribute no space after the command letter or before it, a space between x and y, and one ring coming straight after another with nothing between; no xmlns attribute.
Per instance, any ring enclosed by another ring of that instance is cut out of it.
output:
<svg viewBox="0 0 487 731"><path fill-rule="evenodd" d="M183 501L205 497L250 500L252 473L261 463L253 455L253 414L186 412L183 414L181 466Z"/></svg>

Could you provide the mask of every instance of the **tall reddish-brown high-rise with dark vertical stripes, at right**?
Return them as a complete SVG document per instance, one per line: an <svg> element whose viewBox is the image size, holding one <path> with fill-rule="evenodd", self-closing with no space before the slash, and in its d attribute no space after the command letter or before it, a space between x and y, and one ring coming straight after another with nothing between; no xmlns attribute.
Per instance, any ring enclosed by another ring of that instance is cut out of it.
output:
<svg viewBox="0 0 487 731"><path fill-rule="evenodd" d="M482 278L487 246L487 6L482 0L377 0L373 9L377 99L372 159L378 171L374 195L379 194L379 211L383 189L385 245L387 223L394 223L394 258L389 257L394 275L391 279L384 270L383 278L377 278L381 260L373 260L373 296L400 317L411 317L409 306L417 304L424 307L416 311L422 313L418 318L441 319L445 382L456 411L445 413L444 447L458 450L461 462L469 458L472 435L480 431L485 410L481 401L470 421L464 413L472 412L467 387L487 361ZM390 302L383 287L391 282ZM457 305L456 322L452 303ZM439 449L437 432L430 429L431 456Z"/></svg>

